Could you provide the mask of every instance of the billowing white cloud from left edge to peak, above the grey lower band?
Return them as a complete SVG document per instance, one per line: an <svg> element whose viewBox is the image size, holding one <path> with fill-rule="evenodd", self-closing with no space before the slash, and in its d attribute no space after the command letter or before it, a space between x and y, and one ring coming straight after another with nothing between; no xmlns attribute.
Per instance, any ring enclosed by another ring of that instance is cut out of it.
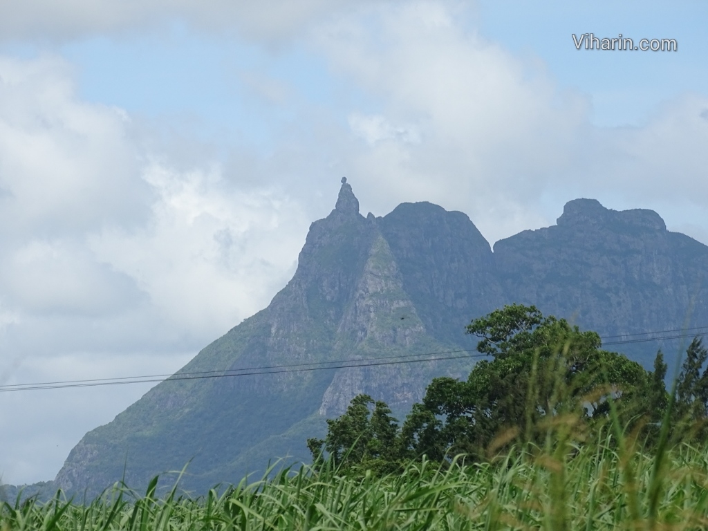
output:
<svg viewBox="0 0 708 531"><path fill-rule="evenodd" d="M76 99L59 59L1 59L0 79L8 309L96 317L147 303L205 340L287 280L308 222L282 190L143 154L124 112Z"/></svg>

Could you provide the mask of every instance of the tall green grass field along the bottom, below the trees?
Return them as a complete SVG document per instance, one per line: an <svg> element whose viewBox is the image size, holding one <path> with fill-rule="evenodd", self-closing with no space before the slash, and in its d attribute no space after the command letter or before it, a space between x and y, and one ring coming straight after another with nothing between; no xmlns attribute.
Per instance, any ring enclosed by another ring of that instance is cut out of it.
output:
<svg viewBox="0 0 708 531"><path fill-rule="evenodd" d="M221 494L178 486L138 496L115 486L92 503L5 504L5 530L700 530L708 528L708 450L656 455L627 441L553 452L512 449L484 464L340 476L307 468Z"/></svg>

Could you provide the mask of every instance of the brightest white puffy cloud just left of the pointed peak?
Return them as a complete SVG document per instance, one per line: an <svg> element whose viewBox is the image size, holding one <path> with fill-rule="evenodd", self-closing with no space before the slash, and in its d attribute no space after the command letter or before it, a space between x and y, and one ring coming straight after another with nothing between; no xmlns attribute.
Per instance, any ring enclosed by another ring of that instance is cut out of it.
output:
<svg viewBox="0 0 708 531"><path fill-rule="evenodd" d="M243 192L219 169L186 173L152 164L152 221L91 239L99 258L135 278L180 329L216 336L264 306L295 270L307 220L275 190Z"/></svg>

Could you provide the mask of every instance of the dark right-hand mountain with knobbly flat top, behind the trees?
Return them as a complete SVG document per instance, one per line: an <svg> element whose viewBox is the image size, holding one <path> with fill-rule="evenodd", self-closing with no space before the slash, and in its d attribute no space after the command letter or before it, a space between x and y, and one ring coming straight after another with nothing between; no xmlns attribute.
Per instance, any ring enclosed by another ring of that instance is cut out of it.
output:
<svg viewBox="0 0 708 531"><path fill-rule="evenodd" d="M536 304L603 336L708 323L708 247L668 232L651 210L574 200L555 227L498 241L494 258L505 302ZM628 353L651 367L656 346Z"/></svg>

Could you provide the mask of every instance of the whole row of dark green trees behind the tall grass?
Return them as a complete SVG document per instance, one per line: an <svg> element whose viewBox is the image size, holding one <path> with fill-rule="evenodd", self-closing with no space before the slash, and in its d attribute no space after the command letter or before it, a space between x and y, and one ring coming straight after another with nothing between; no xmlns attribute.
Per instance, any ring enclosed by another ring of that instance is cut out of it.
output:
<svg viewBox="0 0 708 531"><path fill-rule="evenodd" d="M327 452L340 467L379 471L422 455L436 462L455 455L486 459L491 447L540 443L553 430L554 436L564 430L565 440L581 440L610 414L610 400L623 427L642 416L654 426L666 411L661 352L648 373L624 355L602 350L597 333L521 304L474 319L467 333L477 336L477 350L492 358L477 362L467 380L433 379L401 429L386 404L357 396L343 416L327 421L325 440L308 440L313 457ZM704 414L708 376L699 378L695 365L700 367L708 353L700 342L691 352L685 365L689 383L681 396L690 397L690 404L699 401L703 409L692 405L692 411Z"/></svg>

